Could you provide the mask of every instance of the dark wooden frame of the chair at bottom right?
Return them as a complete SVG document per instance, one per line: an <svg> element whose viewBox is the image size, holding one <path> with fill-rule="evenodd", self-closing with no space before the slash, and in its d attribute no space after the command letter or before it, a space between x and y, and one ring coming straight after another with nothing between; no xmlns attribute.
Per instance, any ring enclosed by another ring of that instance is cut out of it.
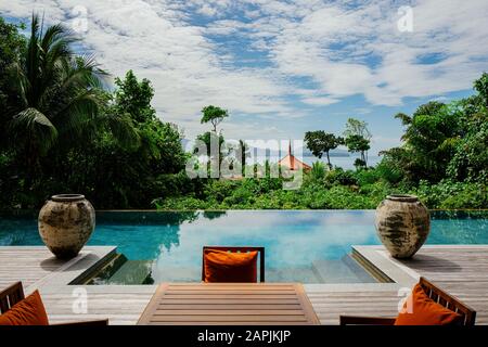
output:
<svg viewBox="0 0 488 347"><path fill-rule="evenodd" d="M460 301L454 296L446 293L437 287L435 284L421 277L419 284L429 298L437 304L450 309L463 317L461 325L472 326L476 321L476 311L467 305ZM381 318L381 317L357 317L357 316L341 316L341 325L394 325L395 318Z"/></svg>

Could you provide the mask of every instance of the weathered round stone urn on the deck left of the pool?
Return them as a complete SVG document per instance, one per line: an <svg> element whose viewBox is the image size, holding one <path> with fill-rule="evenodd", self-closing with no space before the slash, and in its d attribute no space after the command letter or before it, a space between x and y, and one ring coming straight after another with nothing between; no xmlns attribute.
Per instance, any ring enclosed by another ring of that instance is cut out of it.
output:
<svg viewBox="0 0 488 347"><path fill-rule="evenodd" d="M80 194L53 195L39 213L39 234L60 259L78 255L95 224L93 206Z"/></svg>

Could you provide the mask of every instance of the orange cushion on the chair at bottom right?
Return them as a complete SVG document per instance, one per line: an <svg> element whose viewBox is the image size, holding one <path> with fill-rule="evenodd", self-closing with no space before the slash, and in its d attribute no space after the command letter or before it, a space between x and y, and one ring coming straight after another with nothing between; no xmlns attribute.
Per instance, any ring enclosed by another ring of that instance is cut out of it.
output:
<svg viewBox="0 0 488 347"><path fill-rule="evenodd" d="M407 309L409 303L410 312ZM461 319L461 314L431 299L422 286L416 284L395 320L395 325L446 325L460 323Z"/></svg>

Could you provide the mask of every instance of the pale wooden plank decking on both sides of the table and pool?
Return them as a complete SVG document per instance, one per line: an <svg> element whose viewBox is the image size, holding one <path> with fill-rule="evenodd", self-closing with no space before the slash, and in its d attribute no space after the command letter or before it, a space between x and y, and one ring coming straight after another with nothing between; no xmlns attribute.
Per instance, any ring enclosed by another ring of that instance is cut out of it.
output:
<svg viewBox="0 0 488 347"><path fill-rule="evenodd" d="M78 257L61 261L46 247L0 246L0 288L18 280L26 294L39 288L53 323L108 318L111 324L136 324L157 285L69 285L114 252L115 247L85 247ZM411 287L420 275L472 306L477 324L488 324L488 245L424 246L412 260L402 261L381 246L355 246L354 252L393 283L305 284L322 324L337 324L339 314L395 316L399 291ZM80 293L87 295L86 313L73 310Z"/></svg>

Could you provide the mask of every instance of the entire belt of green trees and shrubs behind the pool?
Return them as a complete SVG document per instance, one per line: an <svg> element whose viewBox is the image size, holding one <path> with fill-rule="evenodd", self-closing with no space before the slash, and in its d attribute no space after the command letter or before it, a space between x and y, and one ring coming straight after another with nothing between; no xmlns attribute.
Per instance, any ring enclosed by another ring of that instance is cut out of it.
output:
<svg viewBox="0 0 488 347"><path fill-rule="evenodd" d="M390 193L416 194L431 208L488 206L488 74L470 98L396 115L402 145L375 167L365 123L351 118L341 134L307 132L308 149L326 164L314 163L300 189L284 190L284 179L269 175L190 179L183 134L156 116L149 80L129 70L107 89L107 73L73 51L62 26L41 28L34 17L29 38L18 29L0 17L0 208L38 208L62 192L84 193L95 208L375 208ZM203 107L211 128L197 138L223 144L223 120L231 121L226 110ZM356 170L334 167L329 152L338 145L360 155ZM245 159L231 166L244 170Z"/></svg>

